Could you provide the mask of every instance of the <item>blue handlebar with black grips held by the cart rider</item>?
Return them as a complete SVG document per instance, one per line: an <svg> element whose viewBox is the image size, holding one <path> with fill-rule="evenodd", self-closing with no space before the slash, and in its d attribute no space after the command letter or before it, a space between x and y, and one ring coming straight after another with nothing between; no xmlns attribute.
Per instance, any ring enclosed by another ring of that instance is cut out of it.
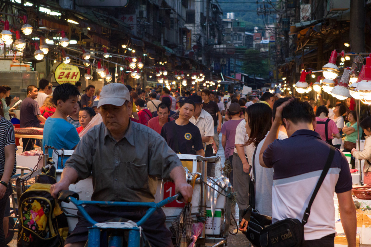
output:
<svg viewBox="0 0 371 247"><path fill-rule="evenodd" d="M60 191L61 193L63 191ZM140 226L143 224L153 213L157 208L160 208L168 203L171 203L172 201L176 199L180 199L183 196L180 193L177 193L175 196L171 196L166 198L165 200L160 201L159 203L138 203L138 202L127 202L127 201L79 201L73 196L68 196L65 198L65 202L71 202L75 204L75 206L78 208L82 216L89 221L92 225L95 225L98 223L97 221L93 220L92 217L89 216L89 214L86 212L85 208L82 205L105 205L105 206L123 206L123 207L150 207L147 210L147 213L137 222L137 225Z"/></svg>

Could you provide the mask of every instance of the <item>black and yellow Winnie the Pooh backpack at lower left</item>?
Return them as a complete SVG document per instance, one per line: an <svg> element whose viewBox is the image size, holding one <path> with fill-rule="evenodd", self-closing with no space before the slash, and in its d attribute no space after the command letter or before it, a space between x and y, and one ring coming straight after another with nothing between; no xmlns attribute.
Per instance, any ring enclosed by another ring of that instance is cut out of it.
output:
<svg viewBox="0 0 371 247"><path fill-rule="evenodd" d="M68 234L67 217L50 194L50 186L55 183L55 168L43 170L36 179L41 183L32 184L18 200L17 247L64 246Z"/></svg>

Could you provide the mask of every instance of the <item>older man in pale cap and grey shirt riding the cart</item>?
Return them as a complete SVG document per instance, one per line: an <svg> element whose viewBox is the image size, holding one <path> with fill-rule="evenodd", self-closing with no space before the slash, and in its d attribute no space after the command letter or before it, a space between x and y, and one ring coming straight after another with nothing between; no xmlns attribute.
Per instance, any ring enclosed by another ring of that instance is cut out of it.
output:
<svg viewBox="0 0 371 247"><path fill-rule="evenodd" d="M79 142L66 161L61 179L53 184L51 193L57 197L72 183L93 176L92 200L153 202L157 178L175 183L186 201L192 195L185 171L178 156L164 138L143 124L129 120L132 109L128 89L119 83L102 88L98 109L103 123L94 126ZM145 141L144 141L145 140ZM138 221L147 208L85 206L95 221L116 217ZM84 246L91 226L83 217L68 236L67 247ZM161 208L141 226L152 246L172 247L171 233L165 227Z"/></svg>

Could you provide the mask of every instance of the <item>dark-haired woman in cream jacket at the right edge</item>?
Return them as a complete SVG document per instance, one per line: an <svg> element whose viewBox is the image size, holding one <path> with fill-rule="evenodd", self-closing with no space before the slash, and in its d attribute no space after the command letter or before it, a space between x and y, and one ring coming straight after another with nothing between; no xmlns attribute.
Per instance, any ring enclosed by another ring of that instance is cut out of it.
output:
<svg viewBox="0 0 371 247"><path fill-rule="evenodd" d="M371 186L371 117L366 117L359 126L365 131L366 140L363 151L351 150L352 156L358 160L365 160L363 166L363 183Z"/></svg>

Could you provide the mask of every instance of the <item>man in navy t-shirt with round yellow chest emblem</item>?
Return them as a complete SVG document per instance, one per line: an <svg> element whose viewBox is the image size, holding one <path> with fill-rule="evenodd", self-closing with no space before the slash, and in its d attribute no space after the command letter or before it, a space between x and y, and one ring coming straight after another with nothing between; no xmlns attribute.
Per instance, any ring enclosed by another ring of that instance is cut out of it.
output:
<svg viewBox="0 0 371 247"><path fill-rule="evenodd" d="M161 129L161 136L165 138L168 146L175 153L194 154L193 146L197 155L204 156L200 130L189 121L193 116L195 107L194 102L190 99L181 101L179 118L165 123Z"/></svg>

